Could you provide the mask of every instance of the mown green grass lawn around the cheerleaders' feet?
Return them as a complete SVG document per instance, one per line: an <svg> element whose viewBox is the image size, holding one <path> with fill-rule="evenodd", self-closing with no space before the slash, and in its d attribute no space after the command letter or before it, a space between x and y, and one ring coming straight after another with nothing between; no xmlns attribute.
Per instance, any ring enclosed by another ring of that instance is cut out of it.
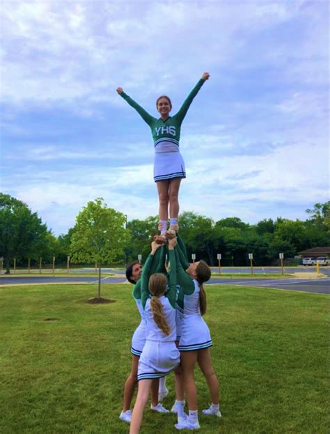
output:
<svg viewBox="0 0 330 434"><path fill-rule="evenodd" d="M329 298L208 286L207 321L221 419L205 434L329 433ZM127 284L0 288L0 432L127 434L118 419L139 314ZM47 318L56 318L47 321ZM209 397L196 369L199 408ZM174 400L173 375L164 405ZM177 433L173 414L146 410L141 434ZM186 431L183 431L186 432Z"/></svg>

